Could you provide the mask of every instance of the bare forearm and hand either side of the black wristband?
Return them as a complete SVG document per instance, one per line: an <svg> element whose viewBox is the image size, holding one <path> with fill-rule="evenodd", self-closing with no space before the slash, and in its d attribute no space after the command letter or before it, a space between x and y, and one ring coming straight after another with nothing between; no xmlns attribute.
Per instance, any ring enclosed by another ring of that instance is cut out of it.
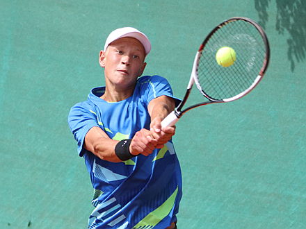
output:
<svg viewBox="0 0 306 229"><path fill-rule="evenodd" d="M150 130L142 129L131 139L129 152L131 155L149 155L156 148L156 139L153 139ZM115 146L119 141L113 140L99 127L90 128L85 136L84 148L102 160L121 162L115 153Z"/></svg>

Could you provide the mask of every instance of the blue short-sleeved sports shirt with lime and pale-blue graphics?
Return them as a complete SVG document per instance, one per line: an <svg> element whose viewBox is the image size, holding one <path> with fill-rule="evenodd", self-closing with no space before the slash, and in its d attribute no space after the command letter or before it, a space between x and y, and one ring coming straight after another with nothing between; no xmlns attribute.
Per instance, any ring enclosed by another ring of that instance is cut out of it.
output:
<svg viewBox="0 0 306 229"><path fill-rule="evenodd" d="M95 210L88 228L166 228L177 221L182 198L182 175L172 142L149 156L138 155L119 163L97 158L83 149L83 142L93 126L116 140L149 129L147 105L162 95L173 97L171 87L161 76L143 76L138 78L134 94L116 103L100 98L104 90L94 88L88 101L74 105L68 118L95 189Z"/></svg>

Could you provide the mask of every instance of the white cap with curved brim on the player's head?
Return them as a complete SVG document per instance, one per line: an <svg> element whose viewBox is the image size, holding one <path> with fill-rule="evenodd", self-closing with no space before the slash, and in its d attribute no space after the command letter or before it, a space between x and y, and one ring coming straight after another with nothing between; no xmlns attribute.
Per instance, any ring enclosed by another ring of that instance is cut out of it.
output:
<svg viewBox="0 0 306 229"><path fill-rule="evenodd" d="M124 28L117 28L113 32L111 32L105 42L104 45L104 51L106 50L107 46L111 44L111 42L118 40L122 37L134 37L141 44L143 44L143 47L145 48L145 55L149 54L151 51L151 43L149 38L145 35L145 33L141 33L136 28L133 27L124 27Z"/></svg>

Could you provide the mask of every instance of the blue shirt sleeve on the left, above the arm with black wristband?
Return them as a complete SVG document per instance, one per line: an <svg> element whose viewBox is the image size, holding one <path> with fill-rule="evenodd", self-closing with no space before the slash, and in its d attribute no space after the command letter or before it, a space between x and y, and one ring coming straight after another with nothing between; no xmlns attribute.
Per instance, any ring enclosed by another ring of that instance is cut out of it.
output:
<svg viewBox="0 0 306 229"><path fill-rule="evenodd" d="M92 106L86 102L74 105L68 115L68 125L74 135L74 139L77 140L79 156L82 157L86 151L83 149L83 142L88 130L93 126L99 127L97 116Z"/></svg>

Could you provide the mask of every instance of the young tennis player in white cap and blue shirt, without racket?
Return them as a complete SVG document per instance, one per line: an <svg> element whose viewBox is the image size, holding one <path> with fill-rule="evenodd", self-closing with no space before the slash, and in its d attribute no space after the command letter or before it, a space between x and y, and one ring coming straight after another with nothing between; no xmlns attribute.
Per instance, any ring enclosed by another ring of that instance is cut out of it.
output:
<svg viewBox="0 0 306 229"><path fill-rule="evenodd" d="M136 28L113 31L99 53L106 87L70 110L95 190L88 228L176 228L182 176L171 141L175 127L161 128L175 99L165 78L139 77L150 50Z"/></svg>

